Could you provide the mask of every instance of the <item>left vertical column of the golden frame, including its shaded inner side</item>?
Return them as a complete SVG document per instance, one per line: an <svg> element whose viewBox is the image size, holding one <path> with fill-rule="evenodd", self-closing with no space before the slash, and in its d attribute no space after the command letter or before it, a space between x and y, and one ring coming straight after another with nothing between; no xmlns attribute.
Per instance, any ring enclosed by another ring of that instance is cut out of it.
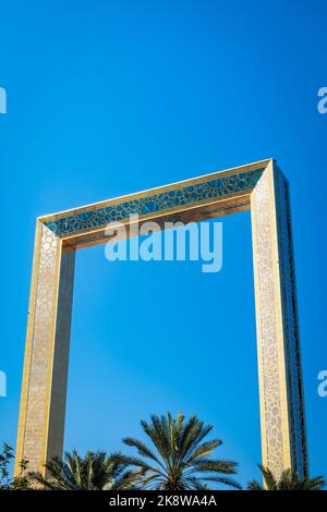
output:
<svg viewBox="0 0 327 512"><path fill-rule="evenodd" d="M24 373L16 441L16 466L45 473L53 454L61 455L75 253L37 222Z"/></svg>

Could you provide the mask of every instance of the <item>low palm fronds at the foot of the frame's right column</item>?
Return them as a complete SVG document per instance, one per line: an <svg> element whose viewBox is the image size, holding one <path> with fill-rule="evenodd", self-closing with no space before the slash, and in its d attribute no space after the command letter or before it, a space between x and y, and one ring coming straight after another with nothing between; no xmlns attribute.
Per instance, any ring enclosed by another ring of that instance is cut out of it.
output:
<svg viewBox="0 0 327 512"><path fill-rule="evenodd" d="M281 476L276 478L268 467L258 465L265 481L265 487L258 481L252 480L247 484L247 490L320 490L325 486L322 476L316 478L299 478L296 472L284 470Z"/></svg>

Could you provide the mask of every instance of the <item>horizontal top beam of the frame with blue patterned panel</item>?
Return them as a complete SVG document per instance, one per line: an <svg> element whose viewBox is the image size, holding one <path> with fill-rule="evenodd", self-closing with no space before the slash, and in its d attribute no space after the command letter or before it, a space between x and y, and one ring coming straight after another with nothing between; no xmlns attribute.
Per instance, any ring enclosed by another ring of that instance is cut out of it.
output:
<svg viewBox="0 0 327 512"><path fill-rule="evenodd" d="M181 214L187 210L195 212L198 217L195 220L217 217L228 212L229 207L244 207L244 202L238 204L239 197L251 194L270 162L271 159L263 160L138 194L109 199L105 203L40 217L38 220L57 236L64 239L66 244L75 243L77 245L82 243L83 239L89 239L89 234L92 234L89 241L95 240L98 232L102 232L109 222L129 222L129 218L133 214L137 214L143 220L170 217L171 215L174 217L178 215L181 220L184 217ZM202 209L208 205L211 206L213 211L202 214ZM220 211L221 214L219 214ZM192 218L194 220L194 216Z"/></svg>

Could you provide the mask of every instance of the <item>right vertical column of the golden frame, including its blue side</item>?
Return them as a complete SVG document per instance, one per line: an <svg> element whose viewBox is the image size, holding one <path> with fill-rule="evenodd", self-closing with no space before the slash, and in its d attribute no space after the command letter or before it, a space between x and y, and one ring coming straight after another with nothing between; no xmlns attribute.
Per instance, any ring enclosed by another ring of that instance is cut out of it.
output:
<svg viewBox="0 0 327 512"><path fill-rule="evenodd" d="M251 196L263 464L277 476L289 467L302 476L307 463L292 236L278 180L271 161Z"/></svg>

